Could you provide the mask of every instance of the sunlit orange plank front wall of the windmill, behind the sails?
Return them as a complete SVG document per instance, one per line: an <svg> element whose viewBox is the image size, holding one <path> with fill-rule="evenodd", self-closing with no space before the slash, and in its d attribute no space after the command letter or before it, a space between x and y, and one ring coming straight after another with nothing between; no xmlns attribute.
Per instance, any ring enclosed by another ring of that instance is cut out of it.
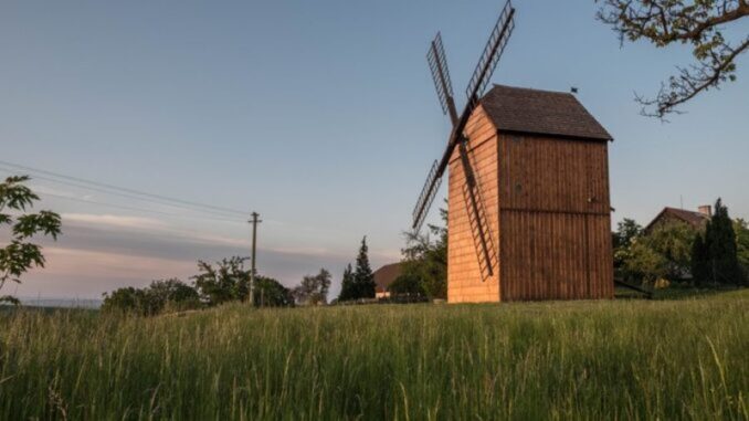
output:
<svg viewBox="0 0 749 421"><path fill-rule="evenodd" d="M498 167L497 131L482 107L466 125L468 155L476 175L484 210L490 225L494 244L498 241ZM465 173L457 148L450 161L447 225L447 301L450 303L482 303L499 301L499 270L483 280L462 188ZM495 250L497 250L495 248ZM497 251L498 253L498 251Z"/></svg>

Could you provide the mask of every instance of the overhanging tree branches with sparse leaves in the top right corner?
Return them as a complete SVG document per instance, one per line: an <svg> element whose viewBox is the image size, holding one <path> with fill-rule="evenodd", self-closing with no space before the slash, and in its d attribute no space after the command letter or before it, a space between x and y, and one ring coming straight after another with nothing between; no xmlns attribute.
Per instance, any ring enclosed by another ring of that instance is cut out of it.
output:
<svg viewBox="0 0 749 421"><path fill-rule="evenodd" d="M736 80L736 59L749 50L745 22L747 0L597 0L603 6L598 19L619 34L620 42L647 40L656 48L690 44L696 63L661 84L655 98L636 96L642 114L661 119L701 92ZM724 36L727 24L736 27L737 40Z"/></svg>

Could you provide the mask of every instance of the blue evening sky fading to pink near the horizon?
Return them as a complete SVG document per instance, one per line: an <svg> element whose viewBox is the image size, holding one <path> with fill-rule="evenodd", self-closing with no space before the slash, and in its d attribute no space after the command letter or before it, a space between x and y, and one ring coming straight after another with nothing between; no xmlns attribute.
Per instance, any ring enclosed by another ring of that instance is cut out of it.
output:
<svg viewBox="0 0 749 421"><path fill-rule="evenodd" d="M0 161L246 211L219 218L38 172L38 209L62 214L63 235L43 241L46 267L2 293L98 298L189 281L198 260L249 255L252 211L263 220L259 271L285 285L326 267L337 294L365 235L374 267L398 261L450 131L429 42L442 31L461 107L503 4L1 1ZM655 94L690 62L687 48L620 46L593 1L514 4L516 29L492 81L579 88L614 137L613 222L646 223L664 206L718 197L749 218L747 54L737 82L664 124L640 116L634 93ZM728 35L747 33L739 23ZM0 165L1 177L23 172Z"/></svg>

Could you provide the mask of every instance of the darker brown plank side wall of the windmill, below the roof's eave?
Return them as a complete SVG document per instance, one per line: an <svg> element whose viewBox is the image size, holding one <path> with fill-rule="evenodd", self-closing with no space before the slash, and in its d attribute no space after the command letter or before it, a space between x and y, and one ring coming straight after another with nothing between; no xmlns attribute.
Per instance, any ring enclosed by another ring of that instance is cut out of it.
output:
<svg viewBox="0 0 749 421"><path fill-rule="evenodd" d="M502 299L613 296L608 144L502 134Z"/></svg>

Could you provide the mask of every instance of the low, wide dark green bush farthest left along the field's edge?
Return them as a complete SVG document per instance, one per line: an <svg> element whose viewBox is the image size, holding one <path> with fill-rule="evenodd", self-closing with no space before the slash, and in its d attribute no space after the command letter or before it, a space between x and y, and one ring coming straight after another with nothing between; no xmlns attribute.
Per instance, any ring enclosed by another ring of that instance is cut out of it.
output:
<svg viewBox="0 0 749 421"><path fill-rule="evenodd" d="M180 280L154 281L148 287L131 286L104 294L103 312L127 312L152 316L165 311L187 311L201 306L198 292Z"/></svg>

